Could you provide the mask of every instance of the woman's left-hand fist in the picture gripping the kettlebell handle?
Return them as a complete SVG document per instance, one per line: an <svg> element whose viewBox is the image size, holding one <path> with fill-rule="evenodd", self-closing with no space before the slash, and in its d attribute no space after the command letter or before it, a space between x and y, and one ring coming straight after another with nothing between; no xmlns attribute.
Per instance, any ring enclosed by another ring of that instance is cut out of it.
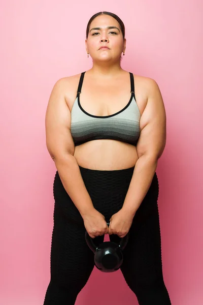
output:
<svg viewBox="0 0 203 305"><path fill-rule="evenodd" d="M88 214L83 216L84 226L91 238L95 238L99 235L108 234L109 227L105 220L104 215L102 215L96 209L89 211Z"/></svg>

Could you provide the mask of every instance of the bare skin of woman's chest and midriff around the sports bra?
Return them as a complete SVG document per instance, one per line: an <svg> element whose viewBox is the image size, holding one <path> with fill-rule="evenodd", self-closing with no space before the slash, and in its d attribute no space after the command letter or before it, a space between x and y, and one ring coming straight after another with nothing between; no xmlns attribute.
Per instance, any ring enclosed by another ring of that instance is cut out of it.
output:
<svg viewBox="0 0 203 305"><path fill-rule="evenodd" d="M67 77L65 100L70 111L76 100L81 74ZM134 75L134 91L141 114L147 104L147 77ZM130 99L129 72L122 70L115 79L99 81L92 78L88 71L80 94L80 103L92 115L105 116L118 112ZM96 103L95 103L96 101ZM140 131L144 127L140 120ZM78 165L94 170L117 170L133 167L137 160L137 148L126 142L111 139L88 141L75 147L74 157Z"/></svg>

